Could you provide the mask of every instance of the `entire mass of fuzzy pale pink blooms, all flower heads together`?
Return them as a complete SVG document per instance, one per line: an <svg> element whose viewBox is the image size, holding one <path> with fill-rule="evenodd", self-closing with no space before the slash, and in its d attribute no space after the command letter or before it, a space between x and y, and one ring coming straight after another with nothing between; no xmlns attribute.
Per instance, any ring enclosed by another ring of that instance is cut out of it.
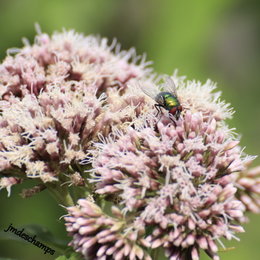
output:
<svg viewBox="0 0 260 260"><path fill-rule="evenodd" d="M0 189L36 178L23 197L48 188L74 204L66 228L84 259L218 260L260 212L259 167L211 81L174 74L183 111L170 119L145 95L163 77L134 49L69 31L15 51L0 65Z"/></svg>

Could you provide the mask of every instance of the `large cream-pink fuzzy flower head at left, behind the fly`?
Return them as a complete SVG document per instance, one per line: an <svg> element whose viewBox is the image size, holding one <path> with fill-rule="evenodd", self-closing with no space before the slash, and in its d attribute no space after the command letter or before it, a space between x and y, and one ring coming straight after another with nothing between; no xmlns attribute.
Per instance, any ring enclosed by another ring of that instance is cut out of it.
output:
<svg viewBox="0 0 260 260"><path fill-rule="evenodd" d="M2 176L75 184L90 142L140 113L144 97L125 88L150 73L147 65L133 49L73 31L40 33L8 55L0 65ZM0 180L0 188L10 187Z"/></svg>

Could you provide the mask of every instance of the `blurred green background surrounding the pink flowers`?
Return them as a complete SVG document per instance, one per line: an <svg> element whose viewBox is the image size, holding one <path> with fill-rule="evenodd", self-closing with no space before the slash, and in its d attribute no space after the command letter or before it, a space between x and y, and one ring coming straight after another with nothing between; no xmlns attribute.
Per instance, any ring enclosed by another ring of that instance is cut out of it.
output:
<svg viewBox="0 0 260 260"><path fill-rule="evenodd" d="M85 34L116 37L123 49L136 47L147 53L157 72L175 68L188 79L218 82L223 99L235 108L230 126L242 133L249 154L259 154L260 138L260 2L259 0L0 0L0 58L6 49L31 42L34 23L44 32L75 29ZM259 164L260 160L255 162ZM47 192L23 200L13 189L0 192L0 225L40 224L57 239L69 239L59 217L64 214ZM242 242L221 259L259 259L260 216L250 216ZM55 257L58 254L54 255ZM0 240L0 257L47 260L54 256L29 243ZM0 258L2 259L2 258ZM208 259L203 255L202 259Z"/></svg>

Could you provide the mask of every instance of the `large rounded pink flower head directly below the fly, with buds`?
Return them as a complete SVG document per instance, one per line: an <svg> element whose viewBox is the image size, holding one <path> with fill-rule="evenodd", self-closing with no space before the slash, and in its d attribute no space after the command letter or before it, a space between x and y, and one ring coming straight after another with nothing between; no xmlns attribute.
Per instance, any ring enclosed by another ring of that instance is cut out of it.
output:
<svg viewBox="0 0 260 260"><path fill-rule="evenodd" d="M163 247L169 259L199 259L199 249L218 259L216 242L243 232L234 173L250 157L225 126L224 108L217 114L218 101L206 113L181 93L186 109L174 123L151 112L143 125L97 143L90 181L96 193L118 201L126 218L142 223L148 248Z"/></svg>

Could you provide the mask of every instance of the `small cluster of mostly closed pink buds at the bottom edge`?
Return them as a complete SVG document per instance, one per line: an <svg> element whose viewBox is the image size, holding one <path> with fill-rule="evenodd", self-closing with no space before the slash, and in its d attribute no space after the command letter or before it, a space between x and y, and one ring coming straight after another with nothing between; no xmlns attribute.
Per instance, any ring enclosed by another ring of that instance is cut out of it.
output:
<svg viewBox="0 0 260 260"><path fill-rule="evenodd" d="M113 207L105 214L95 203L80 199L78 205L68 208L64 219L68 233L73 236L70 245L86 259L144 259L152 260L139 240L143 230L127 226L122 212Z"/></svg>

